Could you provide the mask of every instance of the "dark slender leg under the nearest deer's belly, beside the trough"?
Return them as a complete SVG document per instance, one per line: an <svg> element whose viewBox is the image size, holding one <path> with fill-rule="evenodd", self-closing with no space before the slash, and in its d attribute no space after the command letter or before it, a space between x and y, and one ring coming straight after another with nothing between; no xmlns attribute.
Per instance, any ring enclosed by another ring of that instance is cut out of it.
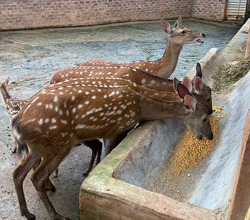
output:
<svg viewBox="0 0 250 220"><path fill-rule="evenodd" d="M102 142L100 142L98 139L95 139L91 141L84 141L83 144L88 146L92 150L92 155L91 155L91 160L89 162L89 166L83 174L83 175L87 175L92 170L92 167L96 158L96 154L97 154L96 164L98 164L101 160Z"/></svg>

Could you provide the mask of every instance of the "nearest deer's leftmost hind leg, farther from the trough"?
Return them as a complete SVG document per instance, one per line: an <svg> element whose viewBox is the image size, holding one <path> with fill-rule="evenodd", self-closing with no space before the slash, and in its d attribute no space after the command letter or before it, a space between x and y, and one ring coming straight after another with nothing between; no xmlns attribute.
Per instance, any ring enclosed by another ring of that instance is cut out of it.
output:
<svg viewBox="0 0 250 220"><path fill-rule="evenodd" d="M13 181L17 193L19 202L20 212L22 216L25 216L28 220L35 219L36 217L31 214L27 208L24 192L23 192L23 181L27 176L28 172L35 166L39 161L40 156L34 152L29 152L27 157L24 157L20 164L12 172Z"/></svg>

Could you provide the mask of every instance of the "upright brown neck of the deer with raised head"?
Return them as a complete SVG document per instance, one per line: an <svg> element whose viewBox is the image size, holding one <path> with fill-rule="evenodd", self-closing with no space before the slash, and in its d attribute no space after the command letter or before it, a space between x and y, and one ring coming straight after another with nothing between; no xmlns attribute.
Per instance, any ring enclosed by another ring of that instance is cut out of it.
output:
<svg viewBox="0 0 250 220"><path fill-rule="evenodd" d="M156 61L159 67L157 76L165 79L171 76L177 66L181 50L182 45L174 44L169 37L163 57Z"/></svg>

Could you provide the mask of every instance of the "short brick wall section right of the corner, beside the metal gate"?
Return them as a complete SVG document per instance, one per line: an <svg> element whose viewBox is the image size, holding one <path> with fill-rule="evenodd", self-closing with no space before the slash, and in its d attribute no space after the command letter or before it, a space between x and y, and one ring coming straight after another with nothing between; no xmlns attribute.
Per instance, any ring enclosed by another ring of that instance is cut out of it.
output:
<svg viewBox="0 0 250 220"><path fill-rule="evenodd" d="M195 0L192 15L194 18L222 21L226 0Z"/></svg>

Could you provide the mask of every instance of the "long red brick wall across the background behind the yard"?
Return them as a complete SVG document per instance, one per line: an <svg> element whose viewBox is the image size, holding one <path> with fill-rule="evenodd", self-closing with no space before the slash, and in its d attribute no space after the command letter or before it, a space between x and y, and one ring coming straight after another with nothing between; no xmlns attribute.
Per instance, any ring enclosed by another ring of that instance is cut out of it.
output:
<svg viewBox="0 0 250 220"><path fill-rule="evenodd" d="M192 12L217 20L222 4L220 0L1 0L0 29L187 18Z"/></svg>

